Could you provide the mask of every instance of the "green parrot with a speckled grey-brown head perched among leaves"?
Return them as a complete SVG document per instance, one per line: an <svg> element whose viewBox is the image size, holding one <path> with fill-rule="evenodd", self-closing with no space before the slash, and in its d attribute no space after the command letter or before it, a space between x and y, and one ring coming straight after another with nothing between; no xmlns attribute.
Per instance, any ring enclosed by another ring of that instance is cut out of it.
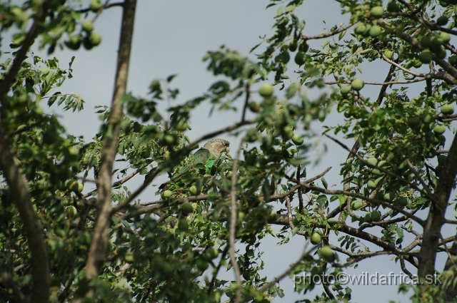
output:
<svg viewBox="0 0 457 303"><path fill-rule="evenodd" d="M230 142L225 139L216 138L211 139L205 143L203 148L197 150L194 155L190 158L189 162L179 169L166 183L159 186L159 190L166 190L169 188L171 183L176 183L181 180L184 176L188 175L189 169L196 168L199 165L204 165L205 170L209 170L213 167L221 155L228 155L230 152Z"/></svg>

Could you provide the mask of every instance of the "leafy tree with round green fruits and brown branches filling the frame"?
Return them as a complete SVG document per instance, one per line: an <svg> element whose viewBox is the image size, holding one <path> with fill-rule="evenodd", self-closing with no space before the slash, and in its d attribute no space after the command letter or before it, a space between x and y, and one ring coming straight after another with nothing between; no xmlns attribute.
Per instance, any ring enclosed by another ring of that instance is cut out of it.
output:
<svg viewBox="0 0 457 303"><path fill-rule="evenodd" d="M156 102L176 98L174 76L152 81L147 97L126 93L135 0L78 9L62 0L0 4L2 30L14 31L17 49L1 63L2 301L268 302L282 296L276 282L302 272L320 277L314 301L348 301L351 289L327 278L379 255L392 255L416 280L401 286L413 289L413 300L455 301L457 242L441 230L457 223L445 217L457 174L457 140L446 130L457 119L457 3L338 1L350 23L311 36L294 13L302 2L271 1L275 34L256 60L226 47L208 52L209 70L228 79L172 106L169 117ZM71 78L71 63L65 70L57 58L27 53L35 42L49 54L93 48L101 37L90 19L113 6L124 11L116 86L111 107L100 108L99 133L86 142L40 105L83 108L80 96L52 93ZM312 40L322 40L321 48L310 48ZM389 66L381 83L358 78L361 63L373 61ZM411 83L423 83L422 91ZM363 96L368 85L380 87L377 98ZM307 97L327 86L331 93ZM241 118L191 142L189 117L205 102L219 111L241 103ZM323 135L348 153L335 189L324 178L330 168L307 176L305 167L310 123L326 123L332 109L345 119ZM198 143L229 133L242 138L233 158L189 165ZM115 169L115 160L126 168ZM183 167L186 175L174 180ZM84 192L92 171L96 190ZM151 184L163 173L171 181L161 191ZM135 175L144 183L127 188ZM144 190L161 198L139 202ZM282 226L281 245L291 236L311 245L269 281L258 247L273 225ZM442 269L438 254L448 257ZM233 281L218 278L223 266L233 269ZM296 291L306 298L319 281L303 279Z"/></svg>

